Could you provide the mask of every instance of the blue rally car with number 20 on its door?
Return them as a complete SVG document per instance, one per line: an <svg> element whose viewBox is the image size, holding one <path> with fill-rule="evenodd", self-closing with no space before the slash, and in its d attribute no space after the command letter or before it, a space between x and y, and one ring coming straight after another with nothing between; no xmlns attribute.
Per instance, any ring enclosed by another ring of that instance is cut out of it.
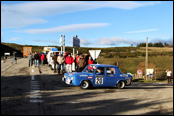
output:
<svg viewBox="0 0 174 116"><path fill-rule="evenodd" d="M132 76L120 72L117 66L106 64L90 64L82 72L65 73L62 77L68 85L89 87L116 87L125 88L131 85Z"/></svg>

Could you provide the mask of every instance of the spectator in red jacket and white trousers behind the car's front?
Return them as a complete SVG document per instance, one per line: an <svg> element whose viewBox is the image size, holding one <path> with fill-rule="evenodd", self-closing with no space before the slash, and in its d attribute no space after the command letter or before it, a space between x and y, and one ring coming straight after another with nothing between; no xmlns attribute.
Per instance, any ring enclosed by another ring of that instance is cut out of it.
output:
<svg viewBox="0 0 174 116"><path fill-rule="evenodd" d="M67 69L68 73L72 72L72 63L73 62L74 62L74 59L73 59L73 57L71 57L71 54L69 53L68 56L65 59L65 63L67 64L66 69Z"/></svg>

